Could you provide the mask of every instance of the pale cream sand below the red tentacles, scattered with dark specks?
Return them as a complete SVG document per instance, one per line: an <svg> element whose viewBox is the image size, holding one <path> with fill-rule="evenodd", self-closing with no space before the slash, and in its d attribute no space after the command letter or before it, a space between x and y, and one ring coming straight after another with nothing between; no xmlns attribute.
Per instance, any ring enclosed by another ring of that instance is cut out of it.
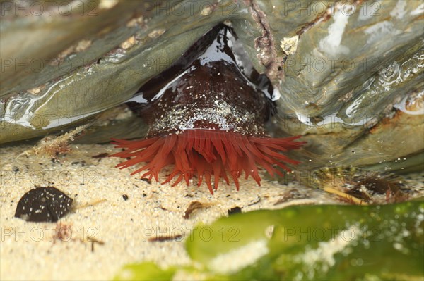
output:
<svg viewBox="0 0 424 281"><path fill-rule="evenodd" d="M0 151L1 280L110 280L126 263L183 265L190 262L184 238L192 227L228 216L231 208L246 212L338 202L322 190L265 179L261 187L252 179L242 180L239 192L234 185L220 184L214 195L206 185L149 183L129 175L135 168L114 168L121 161L118 158L93 158L116 151L110 144L73 144L72 150L56 161L48 156L20 155L31 147L7 146ZM56 187L74 200L75 210L58 222L68 227L62 239L57 237L58 223L31 223L14 217L20 197L36 186ZM285 194L293 190L296 199L284 202ZM192 201L211 206L184 219ZM182 238L150 240L173 235Z"/></svg>

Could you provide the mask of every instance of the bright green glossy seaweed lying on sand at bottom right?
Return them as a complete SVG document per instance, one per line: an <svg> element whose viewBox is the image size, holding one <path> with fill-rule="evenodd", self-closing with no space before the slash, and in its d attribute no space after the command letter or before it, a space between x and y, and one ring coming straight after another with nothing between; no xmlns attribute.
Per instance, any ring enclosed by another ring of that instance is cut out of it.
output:
<svg viewBox="0 0 424 281"><path fill-rule="evenodd" d="M207 280L423 280L424 202L240 213L199 225L186 247L202 266L183 270ZM249 247L256 258L232 267L249 260ZM125 269L143 280L181 270L153 263Z"/></svg>

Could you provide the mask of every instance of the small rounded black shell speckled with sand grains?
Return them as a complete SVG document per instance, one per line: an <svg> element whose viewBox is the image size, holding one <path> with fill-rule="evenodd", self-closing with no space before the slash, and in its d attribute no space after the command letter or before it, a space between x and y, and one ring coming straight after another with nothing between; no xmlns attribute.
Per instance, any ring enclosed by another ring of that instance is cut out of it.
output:
<svg viewBox="0 0 424 281"><path fill-rule="evenodd" d="M25 193L16 206L16 218L33 222L56 222L69 213L73 199L55 187L37 187Z"/></svg>

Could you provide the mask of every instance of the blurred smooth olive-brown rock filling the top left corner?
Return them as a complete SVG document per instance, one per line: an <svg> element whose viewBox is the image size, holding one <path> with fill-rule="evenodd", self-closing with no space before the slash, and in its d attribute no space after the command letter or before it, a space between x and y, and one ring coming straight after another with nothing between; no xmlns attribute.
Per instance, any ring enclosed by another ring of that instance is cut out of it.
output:
<svg viewBox="0 0 424 281"><path fill-rule="evenodd" d="M143 7L143 1L117 3L113 8L101 8L98 1L21 2L2 3L1 98L95 63L134 33L136 28L125 25ZM90 41L90 46L54 61L81 40Z"/></svg>

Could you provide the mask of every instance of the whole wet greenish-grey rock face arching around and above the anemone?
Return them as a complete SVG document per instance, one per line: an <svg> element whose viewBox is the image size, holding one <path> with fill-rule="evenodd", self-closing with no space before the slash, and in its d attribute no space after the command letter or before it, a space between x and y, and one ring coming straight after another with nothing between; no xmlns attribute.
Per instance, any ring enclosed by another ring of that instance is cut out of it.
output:
<svg viewBox="0 0 424 281"><path fill-rule="evenodd" d="M420 163L420 1L100 1L84 13L78 3L69 15L25 15L2 3L1 143L64 130L124 103L225 22L281 94L271 133L308 142L296 152L302 168ZM106 142L103 135L91 142Z"/></svg>

